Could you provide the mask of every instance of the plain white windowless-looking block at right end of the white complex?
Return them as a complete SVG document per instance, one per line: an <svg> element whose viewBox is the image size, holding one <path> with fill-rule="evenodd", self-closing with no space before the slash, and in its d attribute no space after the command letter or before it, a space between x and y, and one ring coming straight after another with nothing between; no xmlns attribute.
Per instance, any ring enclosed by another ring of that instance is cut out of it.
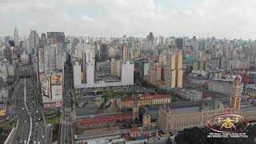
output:
<svg viewBox="0 0 256 144"><path fill-rule="evenodd" d="M134 85L134 62L122 62L122 84Z"/></svg>

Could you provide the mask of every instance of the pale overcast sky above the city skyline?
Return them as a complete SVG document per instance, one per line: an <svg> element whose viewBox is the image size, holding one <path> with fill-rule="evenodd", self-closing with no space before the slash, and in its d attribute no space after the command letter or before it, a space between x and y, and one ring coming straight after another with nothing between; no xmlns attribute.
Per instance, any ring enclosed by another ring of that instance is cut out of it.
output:
<svg viewBox="0 0 256 144"><path fill-rule="evenodd" d="M0 0L0 36L216 36L256 39L256 0Z"/></svg>

